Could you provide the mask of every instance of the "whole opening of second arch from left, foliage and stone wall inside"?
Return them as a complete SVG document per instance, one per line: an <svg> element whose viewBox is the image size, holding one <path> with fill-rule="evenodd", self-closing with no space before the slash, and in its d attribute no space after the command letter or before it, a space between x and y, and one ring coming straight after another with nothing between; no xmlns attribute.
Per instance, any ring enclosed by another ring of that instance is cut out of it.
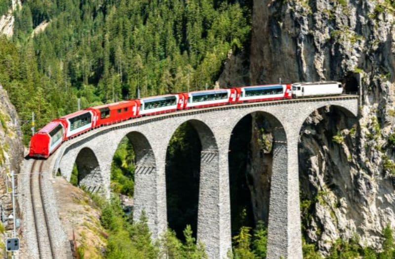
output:
<svg viewBox="0 0 395 259"><path fill-rule="evenodd" d="M113 155L111 190L119 195L124 212L133 221L145 212L151 231L156 229L156 178L157 163L151 144L142 133L129 132Z"/></svg>

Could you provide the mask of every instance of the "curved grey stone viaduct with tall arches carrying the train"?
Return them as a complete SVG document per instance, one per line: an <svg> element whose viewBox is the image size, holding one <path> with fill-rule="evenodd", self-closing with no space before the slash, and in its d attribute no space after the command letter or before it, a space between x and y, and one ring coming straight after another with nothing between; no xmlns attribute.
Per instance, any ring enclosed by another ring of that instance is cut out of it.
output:
<svg viewBox="0 0 395 259"><path fill-rule="evenodd" d="M70 180L76 163L80 184L109 197L113 156L121 139L127 136L136 154L134 218L139 219L144 209L153 237L157 238L167 227L166 149L175 130L190 122L202 146L197 238L205 244L210 259L226 258L231 249L228 152L232 131L247 114L264 112L276 128L267 258L301 259L298 138L306 118L326 106L356 116L358 97L281 100L140 117L92 130L64 143L53 155L53 170Z"/></svg>

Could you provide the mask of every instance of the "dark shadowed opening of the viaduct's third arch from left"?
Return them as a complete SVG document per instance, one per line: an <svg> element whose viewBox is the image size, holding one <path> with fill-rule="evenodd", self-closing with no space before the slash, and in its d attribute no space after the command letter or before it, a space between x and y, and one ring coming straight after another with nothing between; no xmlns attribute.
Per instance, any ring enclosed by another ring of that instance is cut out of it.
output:
<svg viewBox="0 0 395 259"><path fill-rule="evenodd" d="M181 124L171 137L166 150L166 205L167 221L179 239L191 225L197 237L197 214L200 186L202 141L197 122Z"/></svg>

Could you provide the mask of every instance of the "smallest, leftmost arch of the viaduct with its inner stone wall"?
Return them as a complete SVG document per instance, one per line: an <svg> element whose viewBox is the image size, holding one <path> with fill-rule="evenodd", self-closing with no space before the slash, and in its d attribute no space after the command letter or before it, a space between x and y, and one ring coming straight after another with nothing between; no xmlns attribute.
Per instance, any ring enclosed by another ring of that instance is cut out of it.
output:
<svg viewBox="0 0 395 259"><path fill-rule="evenodd" d="M84 185L90 192L98 192L103 188L103 177L95 153L90 148L79 150L76 165L78 185Z"/></svg>

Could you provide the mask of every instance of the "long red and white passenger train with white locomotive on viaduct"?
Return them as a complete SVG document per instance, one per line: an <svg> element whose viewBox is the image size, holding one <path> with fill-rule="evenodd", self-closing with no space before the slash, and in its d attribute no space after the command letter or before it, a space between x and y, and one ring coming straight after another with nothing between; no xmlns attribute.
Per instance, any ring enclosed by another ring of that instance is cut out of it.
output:
<svg viewBox="0 0 395 259"><path fill-rule="evenodd" d="M89 130L141 116L248 102L340 95L337 81L242 86L144 97L89 107L50 121L30 141L29 156L48 158L65 141Z"/></svg>

